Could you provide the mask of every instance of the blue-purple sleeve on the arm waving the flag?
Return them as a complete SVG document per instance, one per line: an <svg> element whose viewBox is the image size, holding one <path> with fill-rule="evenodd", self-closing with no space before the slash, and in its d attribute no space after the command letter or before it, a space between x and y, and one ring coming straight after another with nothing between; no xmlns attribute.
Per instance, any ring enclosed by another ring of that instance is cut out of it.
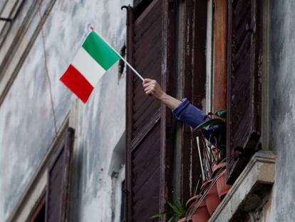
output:
<svg viewBox="0 0 295 222"><path fill-rule="evenodd" d="M186 98L182 99L181 104L177 106L176 109L172 110L172 113L176 116L176 118L179 121L182 121L182 123L192 126L192 128L196 128L202 122L207 121L209 119L209 116L206 116L206 114L202 110L190 104L190 101L188 101L188 99ZM202 130L202 133L204 133L204 136L209 140L212 131L213 127L204 128Z"/></svg>

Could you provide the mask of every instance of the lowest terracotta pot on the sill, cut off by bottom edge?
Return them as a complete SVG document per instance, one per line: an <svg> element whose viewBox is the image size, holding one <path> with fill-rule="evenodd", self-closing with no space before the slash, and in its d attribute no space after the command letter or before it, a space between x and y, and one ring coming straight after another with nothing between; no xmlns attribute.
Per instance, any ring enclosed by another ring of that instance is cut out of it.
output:
<svg viewBox="0 0 295 222"><path fill-rule="evenodd" d="M205 200L201 202L196 202L197 199L200 199L201 195L193 196L190 200L187 201L187 208L195 208L197 205L197 209L192 215L192 222L207 222L210 218L209 212L207 211Z"/></svg>

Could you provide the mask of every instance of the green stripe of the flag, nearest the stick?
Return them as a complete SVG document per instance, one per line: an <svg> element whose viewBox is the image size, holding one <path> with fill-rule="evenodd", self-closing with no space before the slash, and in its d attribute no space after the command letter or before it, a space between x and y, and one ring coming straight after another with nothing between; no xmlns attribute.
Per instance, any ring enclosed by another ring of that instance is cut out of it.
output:
<svg viewBox="0 0 295 222"><path fill-rule="evenodd" d="M82 46L105 71L120 59L115 51L113 51L113 49L94 31L90 32Z"/></svg>

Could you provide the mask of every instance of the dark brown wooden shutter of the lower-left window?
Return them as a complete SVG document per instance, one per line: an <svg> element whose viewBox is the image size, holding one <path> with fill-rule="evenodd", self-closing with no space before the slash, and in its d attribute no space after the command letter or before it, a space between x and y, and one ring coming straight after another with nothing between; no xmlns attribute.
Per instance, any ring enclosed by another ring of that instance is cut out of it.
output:
<svg viewBox="0 0 295 222"><path fill-rule="evenodd" d="M46 193L46 222L67 221L68 191L71 153L73 148L72 128L68 128L61 139L56 155L48 166Z"/></svg>

